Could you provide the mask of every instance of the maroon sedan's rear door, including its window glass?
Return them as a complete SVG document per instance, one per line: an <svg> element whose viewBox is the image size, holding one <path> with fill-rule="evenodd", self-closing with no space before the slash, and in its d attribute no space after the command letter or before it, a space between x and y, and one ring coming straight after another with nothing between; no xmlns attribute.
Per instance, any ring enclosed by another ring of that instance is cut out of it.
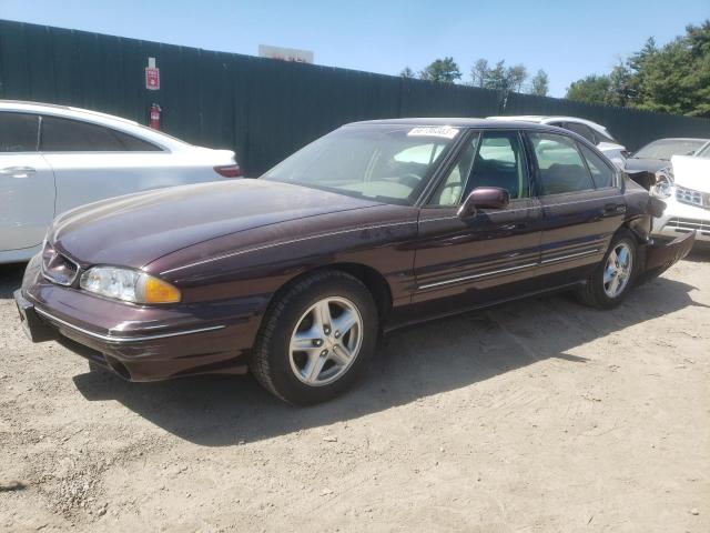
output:
<svg viewBox="0 0 710 533"><path fill-rule="evenodd" d="M540 274L562 273L556 278L560 284L577 281L601 261L623 221L617 173L571 137L537 131L527 137L542 207Z"/></svg>

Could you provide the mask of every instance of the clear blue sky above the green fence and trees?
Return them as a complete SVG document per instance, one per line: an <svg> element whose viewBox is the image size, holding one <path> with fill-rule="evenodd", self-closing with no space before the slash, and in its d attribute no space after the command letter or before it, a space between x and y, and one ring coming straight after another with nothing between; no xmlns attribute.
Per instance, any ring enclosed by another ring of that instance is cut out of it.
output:
<svg viewBox="0 0 710 533"><path fill-rule="evenodd" d="M470 81L478 58L505 59L544 69L552 97L709 18L710 0L0 0L0 19L252 56L298 48L384 74L452 56Z"/></svg>

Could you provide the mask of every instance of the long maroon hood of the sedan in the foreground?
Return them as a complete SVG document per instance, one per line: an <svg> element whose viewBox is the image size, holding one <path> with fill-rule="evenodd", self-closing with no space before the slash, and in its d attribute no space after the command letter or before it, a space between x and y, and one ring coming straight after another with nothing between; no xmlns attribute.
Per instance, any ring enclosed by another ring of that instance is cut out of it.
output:
<svg viewBox="0 0 710 533"><path fill-rule="evenodd" d="M54 221L49 240L82 265L142 268L219 237L377 204L265 180L201 183L78 208Z"/></svg>

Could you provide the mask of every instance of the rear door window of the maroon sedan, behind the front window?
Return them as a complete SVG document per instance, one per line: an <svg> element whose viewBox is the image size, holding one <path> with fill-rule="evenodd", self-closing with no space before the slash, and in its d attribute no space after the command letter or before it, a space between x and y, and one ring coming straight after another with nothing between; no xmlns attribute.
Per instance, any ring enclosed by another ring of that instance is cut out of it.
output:
<svg viewBox="0 0 710 533"><path fill-rule="evenodd" d="M537 188L540 195L595 189L577 143L565 135L530 132L538 164Z"/></svg>

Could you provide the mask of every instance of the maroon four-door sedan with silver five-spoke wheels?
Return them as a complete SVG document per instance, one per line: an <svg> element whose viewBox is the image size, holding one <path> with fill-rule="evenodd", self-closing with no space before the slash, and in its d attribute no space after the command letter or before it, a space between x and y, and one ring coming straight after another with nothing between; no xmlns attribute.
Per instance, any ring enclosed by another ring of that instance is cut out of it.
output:
<svg viewBox="0 0 710 533"><path fill-rule="evenodd" d="M333 398L381 332L531 294L609 309L684 257L662 202L581 137L474 119L348 124L258 180L59 217L16 300L30 339L133 381L245 372Z"/></svg>

